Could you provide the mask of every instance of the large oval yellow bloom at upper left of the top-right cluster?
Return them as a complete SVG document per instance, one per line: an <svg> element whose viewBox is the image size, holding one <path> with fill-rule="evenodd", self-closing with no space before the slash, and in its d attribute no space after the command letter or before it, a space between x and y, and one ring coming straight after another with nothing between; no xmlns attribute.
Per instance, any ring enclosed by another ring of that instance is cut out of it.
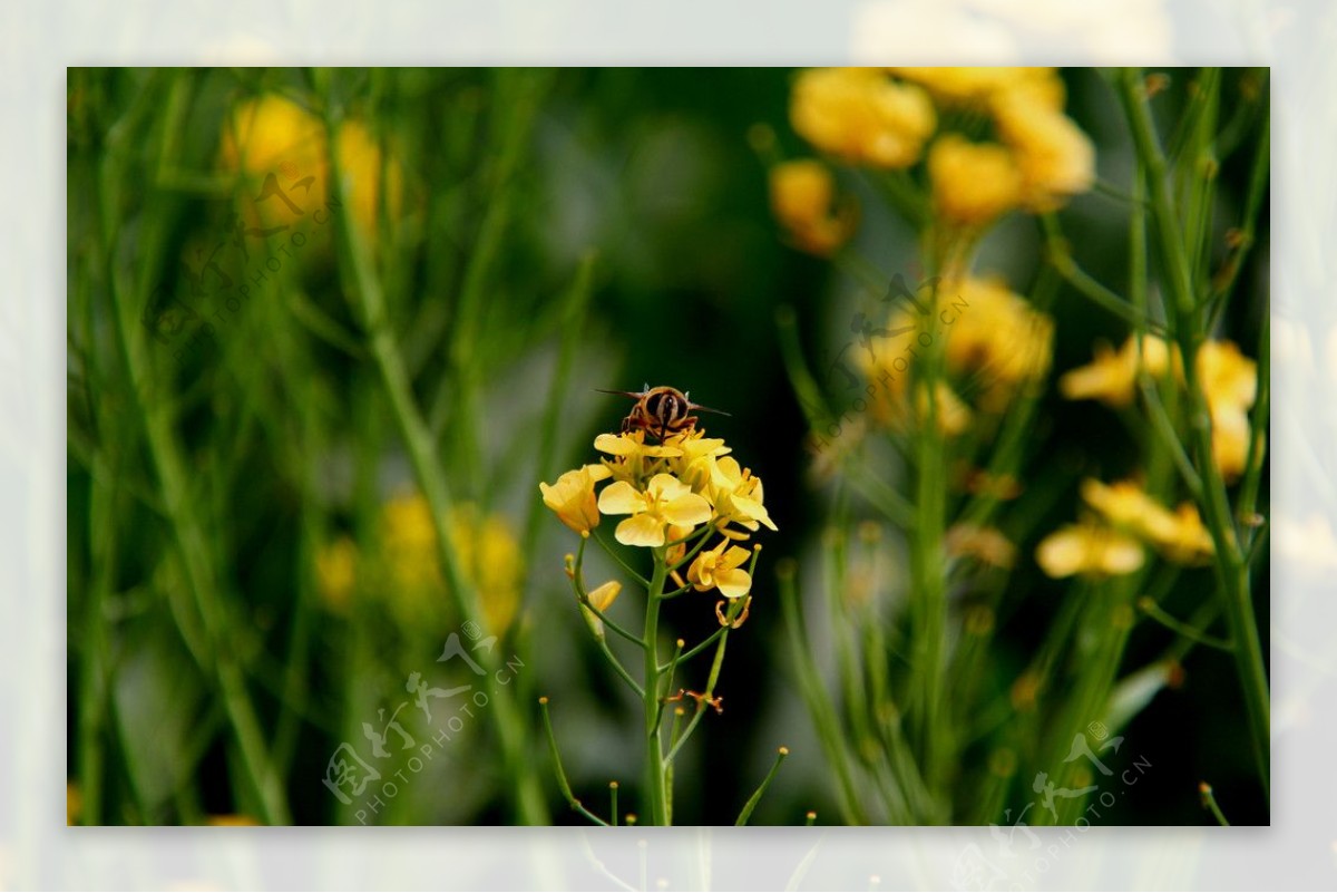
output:
<svg viewBox="0 0 1337 893"><path fill-rule="evenodd" d="M872 68L810 68L790 94L794 131L853 164L909 167L937 126L928 94Z"/></svg>

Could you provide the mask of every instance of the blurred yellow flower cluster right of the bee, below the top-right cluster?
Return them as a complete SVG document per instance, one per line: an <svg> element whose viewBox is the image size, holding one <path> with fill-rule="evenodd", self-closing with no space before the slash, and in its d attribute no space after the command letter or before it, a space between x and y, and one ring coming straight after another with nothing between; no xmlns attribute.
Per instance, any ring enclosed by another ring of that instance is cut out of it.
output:
<svg viewBox="0 0 1337 893"><path fill-rule="evenodd" d="M945 338L943 353L947 370L961 382L963 392L973 396L975 408L997 413L1007 408L1016 390L1039 381L1050 370L1054 342L1054 320L1032 307L1025 298L1011 291L997 278L967 277L939 285L937 337ZM898 306L885 334L870 338L860 362L872 382L878 382L873 410L882 422L905 416L908 369L923 340L906 337L923 321L912 310ZM937 326L935 326L937 328ZM925 337L931 337L927 332ZM955 436L967 429L971 406L945 382L937 390L939 426ZM923 418L928 394L919 393L917 410Z"/></svg>

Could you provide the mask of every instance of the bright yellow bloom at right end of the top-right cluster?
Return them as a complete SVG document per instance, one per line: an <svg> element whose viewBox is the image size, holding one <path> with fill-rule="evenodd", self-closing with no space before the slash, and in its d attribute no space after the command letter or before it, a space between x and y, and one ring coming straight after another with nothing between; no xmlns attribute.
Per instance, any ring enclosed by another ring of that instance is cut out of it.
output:
<svg viewBox="0 0 1337 893"><path fill-rule="evenodd" d="M1095 183L1095 146L1071 118L1035 90L1004 91L993 98L993 120L1016 154L1023 205L1052 211Z"/></svg>

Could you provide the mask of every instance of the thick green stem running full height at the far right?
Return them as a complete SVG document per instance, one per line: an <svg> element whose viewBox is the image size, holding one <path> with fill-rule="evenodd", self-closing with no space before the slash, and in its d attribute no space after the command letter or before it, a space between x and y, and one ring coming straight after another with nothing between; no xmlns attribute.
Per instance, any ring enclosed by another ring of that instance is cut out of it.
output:
<svg viewBox="0 0 1337 893"><path fill-rule="evenodd" d="M1193 275L1185 234L1166 183L1166 159L1151 123L1151 110L1135 70L1119 76L1120 96L1132 130L1134 146L1146 170L1151 197L1152 221L1161 245L1162 266L1175 309L1175 336L1183 356L1189 396L1190 436L1203 479L1199 507L1203 511L1211 541L1215 545L1217 578L1225 604L1230 638L1235 643L1235 671L1243 690L1245 710L1258 762L1263 791L1270 791L1271 733L1270 694L1263 663L1258 624L1250 594L1249 568L1226 499L1225 481L1211 456L1211 417L1197 374L1198 346L1206 337L1199 329L1194 299Z"/></svg>

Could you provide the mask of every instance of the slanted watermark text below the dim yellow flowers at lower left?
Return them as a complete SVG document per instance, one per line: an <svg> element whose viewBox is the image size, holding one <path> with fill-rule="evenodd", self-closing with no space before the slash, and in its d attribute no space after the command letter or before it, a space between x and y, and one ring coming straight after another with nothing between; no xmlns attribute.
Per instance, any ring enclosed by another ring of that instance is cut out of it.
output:
<svg viewBox="0 0 1337 893"><path fill-rule="evenodd" d="M476 676L487 676L488 671L471 655L491 652L497 638L483 638L479 624L472 620L461 631L469 640L468 647L459 632L452 632L445 639L437 663L459 660ZM524 660L512 654L492 671L492 682L499 687L509 686L523 667ZM420 671L409 674L404 691L409 696L402 698L389 715L382 707L377 711L376 722L362 722L362 737L366 741L361 745L361 751L346 741L341 742L325 766L322 783L341 803L353 807L353 817L362 825L386 809L428 763L491 706L491 698L483 687L469 683L439 688L429 684ZM400 722L405 710L405 722L409 717L422 714L418 723L409 723L413 726L412 731ZM364 753L369 758L364 758Z"/></svg>

